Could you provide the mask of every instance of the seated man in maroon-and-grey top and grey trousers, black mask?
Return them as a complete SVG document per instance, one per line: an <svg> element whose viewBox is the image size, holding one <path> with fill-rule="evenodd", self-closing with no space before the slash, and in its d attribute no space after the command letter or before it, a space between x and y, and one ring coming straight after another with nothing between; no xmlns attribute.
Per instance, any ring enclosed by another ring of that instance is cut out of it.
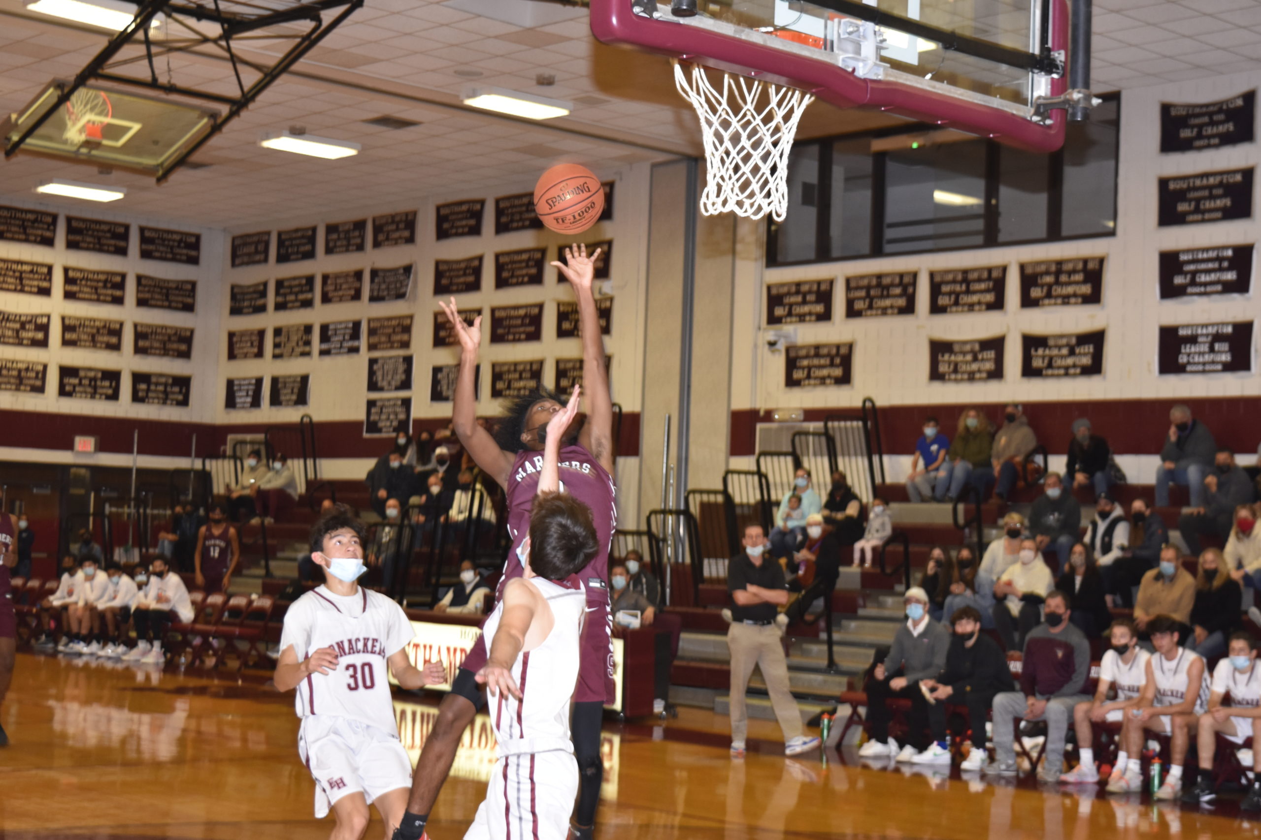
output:
<svg viewBox="0 0 1261 840"><path fill-rule="evenodd" d="M1045 621L1029 631L1020 667L1020 690L994 698L994 763L985 771L1015 776L1015 722L1045 720L1045 758L1038 778L1054 782L1064 767L1068 722L1078 703L1090 700L1091 645L1069 620L1068 599L1059 591L1047 593Z"/></svg>

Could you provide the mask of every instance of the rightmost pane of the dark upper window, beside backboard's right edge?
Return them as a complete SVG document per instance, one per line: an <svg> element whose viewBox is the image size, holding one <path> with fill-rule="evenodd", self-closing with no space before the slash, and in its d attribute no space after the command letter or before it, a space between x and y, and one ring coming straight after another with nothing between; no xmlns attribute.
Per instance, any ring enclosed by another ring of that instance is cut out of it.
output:
<svg viewBox="0 0 1261 840"><path fill-rule="evenodd" d="M1117 99L1107 99L1087 122L1069 122L1064 137L1062 234L1079 237L1116 229Z"/></svg>

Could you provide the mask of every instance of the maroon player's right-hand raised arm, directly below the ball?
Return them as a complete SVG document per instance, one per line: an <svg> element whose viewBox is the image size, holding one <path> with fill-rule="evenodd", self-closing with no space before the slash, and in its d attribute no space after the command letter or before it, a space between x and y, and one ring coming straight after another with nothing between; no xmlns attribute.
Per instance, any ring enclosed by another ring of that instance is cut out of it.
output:
<svg viewBox="0 0 1261 840"><path fill-rule="evenodd" d="M590 257L586 246L565 248L565 262L554 262L574 287L578 298L578 322L583 334L583 384L586 387L586 424L579 441L595 456L600 466L613 472L613 397L609 394L609 373L604 366L604 336L600 312L595 309L591 281L600 249Z"/></svg>

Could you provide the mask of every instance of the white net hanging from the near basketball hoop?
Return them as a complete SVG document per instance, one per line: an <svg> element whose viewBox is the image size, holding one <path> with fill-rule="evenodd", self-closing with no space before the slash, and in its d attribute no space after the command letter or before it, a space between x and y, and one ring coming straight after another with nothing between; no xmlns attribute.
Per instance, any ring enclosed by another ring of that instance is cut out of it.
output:
<svg viewBox="0 0 1261 840"><path fill-rule="evenodd" d="M714 87L700 64L690 72L675 62L675 84L701 120L705 191L701 213L735 213L783 222L788 212L788 152L797 122L815 97L796 88L721 71Z"/></svg>

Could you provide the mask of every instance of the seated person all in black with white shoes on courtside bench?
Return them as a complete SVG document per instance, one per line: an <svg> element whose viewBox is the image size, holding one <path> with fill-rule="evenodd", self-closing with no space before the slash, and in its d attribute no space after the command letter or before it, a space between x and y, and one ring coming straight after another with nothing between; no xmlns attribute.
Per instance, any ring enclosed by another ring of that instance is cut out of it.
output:
<svg viewBox="0 0 1261 840"><path fill-rule="evenodd" d="M946 651L946 669L937 679L923 680L938 703L957 703L967 707L972 730L972 751L960 764L962 771L985 767L985 724L990 717L995 695L1015 691L1006 654L989 636L981 635L981 613L973 607L963 607L951 615L955 633ZM912 759L914 761L914 759Z"/></svg>

